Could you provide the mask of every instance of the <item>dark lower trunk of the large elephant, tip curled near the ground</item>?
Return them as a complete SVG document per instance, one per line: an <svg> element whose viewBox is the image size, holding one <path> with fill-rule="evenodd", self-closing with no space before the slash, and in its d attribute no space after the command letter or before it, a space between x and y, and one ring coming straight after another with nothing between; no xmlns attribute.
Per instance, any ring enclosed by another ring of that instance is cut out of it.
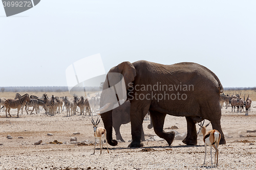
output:
<svg viewBox="0 0 256 170"><path fill-rule="evenodd" d="M106 129L106 140L108 140L108 143L112 146L117 145L117 141L112 138L113 133L113 122L112 122L112 110L100 114L101 119L104 124L104 128Z"/></svg>

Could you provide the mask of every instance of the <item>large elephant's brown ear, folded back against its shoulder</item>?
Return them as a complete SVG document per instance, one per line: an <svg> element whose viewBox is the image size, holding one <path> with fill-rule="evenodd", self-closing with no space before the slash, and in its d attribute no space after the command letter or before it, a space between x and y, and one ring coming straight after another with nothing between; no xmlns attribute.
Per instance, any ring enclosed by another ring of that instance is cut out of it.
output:
<svg viewBox="0 0 256 170"><path fill-rule="evenodd" d="M129 83L134 81L136 69L129 61L124 61L116 66L116 71L123 75L126 90L129 89Z"/></svg>

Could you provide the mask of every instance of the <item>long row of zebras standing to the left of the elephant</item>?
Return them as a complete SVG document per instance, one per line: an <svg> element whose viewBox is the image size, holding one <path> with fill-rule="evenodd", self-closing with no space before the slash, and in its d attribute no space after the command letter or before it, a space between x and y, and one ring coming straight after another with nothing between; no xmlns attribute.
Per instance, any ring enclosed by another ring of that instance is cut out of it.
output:
<svg viewBox="0 0 256 170"><path fill-rule="evenodd" d="M31 113L35 110L36 114L40 112L41 109L44 108L46 115L55 115L56 113L62 113L64 111L64 107L66 107L67 110L67 116L75 115L76 113L80 112L80 115L85 113L89 113L90 116L96 115L96 110L99 109L99 101L100 101L100 95L97 94L93 97L84 97L81 96L80 98L73 94L73 98L69 99L67 96L65 97L57 97L52 95L50 98L47 96L46 93L42 94L41 98L38 98L35 95L24 94L23 96L19 93L16 93L16 96L14 99L7 99L1 98L0 99L0 112L1 109L3 111L6 111L6 117L7 112L10 114L10 109L17 109L17 117L19 110L25 108L27 114L28 108L33 107ZM78 109L79 108L79 109ZM31 114L30 113L30 114Z"/></svg>

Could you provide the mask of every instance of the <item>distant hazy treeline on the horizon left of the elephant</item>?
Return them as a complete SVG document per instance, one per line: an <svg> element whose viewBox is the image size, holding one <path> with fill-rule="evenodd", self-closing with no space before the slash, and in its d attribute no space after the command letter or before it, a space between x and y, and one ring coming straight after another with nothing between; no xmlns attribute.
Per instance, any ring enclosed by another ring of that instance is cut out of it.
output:
<svg viewBox="0 0 256 170"><path fill-rule="evenodd" d="M76 88L76 87L75 87ZM76 90L76 89L72 89ZM77 87L77 91L80 88ZM100 87L86 87L87 91L100 91ZM47 86L47 87L0 87L1 92L29 92L29 91L37 91L37 92L62 92L69 91L67 86Z"/></svg>

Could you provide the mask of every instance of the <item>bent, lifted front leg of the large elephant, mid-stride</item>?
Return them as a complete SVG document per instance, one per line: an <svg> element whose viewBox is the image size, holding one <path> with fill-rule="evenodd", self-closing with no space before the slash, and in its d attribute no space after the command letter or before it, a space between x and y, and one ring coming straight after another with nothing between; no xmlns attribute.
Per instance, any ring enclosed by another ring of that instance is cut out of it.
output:
<svg viewBox="0 0 256 170"><path fill-rule="evenodd" d="M164 132L163 131L163 124L164 124L164 119L165 119L166 114L160 113L157 111L150 111L150 113L151 113L151 118L152 118L152 123L153 123L155 133L159 137L165 139L169 145L172 144L174 141L175 132L173 132L173 131Z"/></svg>

